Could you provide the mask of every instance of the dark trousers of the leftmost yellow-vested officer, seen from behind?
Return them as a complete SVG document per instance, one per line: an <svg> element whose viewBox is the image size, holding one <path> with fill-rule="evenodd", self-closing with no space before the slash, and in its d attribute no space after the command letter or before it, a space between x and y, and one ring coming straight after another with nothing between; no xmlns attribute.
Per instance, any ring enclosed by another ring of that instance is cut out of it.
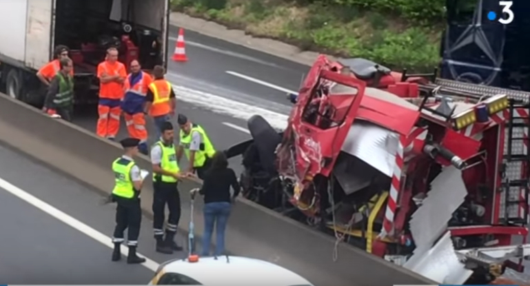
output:
<svg viewBox="0 0 530 286"><path fill-rule="evenodd" d="M142 210L140 198L122 198L112 195L113 200L118 204L116 207L116 227L114 227L113 243L123 243L123 232L128 229L127 245L136 247L138 236L140 235L140 225L142 221Z"/></svg>

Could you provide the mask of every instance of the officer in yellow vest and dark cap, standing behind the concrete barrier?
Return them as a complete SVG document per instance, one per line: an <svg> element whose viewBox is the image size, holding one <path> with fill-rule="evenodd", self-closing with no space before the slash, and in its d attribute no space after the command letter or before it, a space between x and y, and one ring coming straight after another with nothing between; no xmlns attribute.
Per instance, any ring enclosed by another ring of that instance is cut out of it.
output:
<svg viewBox="0 0 530 286"><path fill-rule="evenodd" d="M190 164L187 172L197 172L199 178L204 178L204 173L210 166L210 159L215 154L214 145L212 145L203 127L192 123L185 115L179 114L178 123L181 132L176 158L180 162L184 152Z"/></svg>

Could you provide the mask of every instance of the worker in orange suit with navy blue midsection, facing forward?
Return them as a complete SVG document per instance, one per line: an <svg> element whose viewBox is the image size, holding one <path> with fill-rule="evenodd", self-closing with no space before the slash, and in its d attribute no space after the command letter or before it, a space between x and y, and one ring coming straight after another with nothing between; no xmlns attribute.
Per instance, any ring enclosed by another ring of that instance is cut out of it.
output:
<svg viewBox="0 0 530 286"><path fill-rule="evenodd" d="M147 129L145 128L145 95L153 79L150 74L141 70L140 63L131 61L131 73L123 83L125 96L121 102L121 111L125 117L125 124L129 136L140 139L138 148L141 153L147 155Z"/></svg>

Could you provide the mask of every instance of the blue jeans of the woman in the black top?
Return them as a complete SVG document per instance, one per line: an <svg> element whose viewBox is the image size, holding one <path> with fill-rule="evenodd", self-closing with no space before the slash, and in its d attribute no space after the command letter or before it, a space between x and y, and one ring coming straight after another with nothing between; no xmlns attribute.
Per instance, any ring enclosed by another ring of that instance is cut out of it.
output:
<svg viewBox="0 0 530 286"><path fill-rule="evenodd" d="M216 232L215 256L221 256L225 252L225 229L230 216L232 205L227 202L206 203L203 207L204 213L204 235L203 235L203 252L201 256L210 256L210 243L214 233L214 224Z"/></svg>

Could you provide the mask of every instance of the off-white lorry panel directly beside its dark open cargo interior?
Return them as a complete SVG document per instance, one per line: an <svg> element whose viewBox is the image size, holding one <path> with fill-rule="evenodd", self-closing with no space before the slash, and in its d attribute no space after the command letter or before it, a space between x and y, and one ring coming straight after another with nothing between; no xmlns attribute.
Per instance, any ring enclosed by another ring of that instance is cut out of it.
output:
<svg viewBox="0 0 530 286"><path fill-rule="evenodd" d="M53 0L28 0L25 63L35 70L48 63L52 54L52 10Z"/></svg>

